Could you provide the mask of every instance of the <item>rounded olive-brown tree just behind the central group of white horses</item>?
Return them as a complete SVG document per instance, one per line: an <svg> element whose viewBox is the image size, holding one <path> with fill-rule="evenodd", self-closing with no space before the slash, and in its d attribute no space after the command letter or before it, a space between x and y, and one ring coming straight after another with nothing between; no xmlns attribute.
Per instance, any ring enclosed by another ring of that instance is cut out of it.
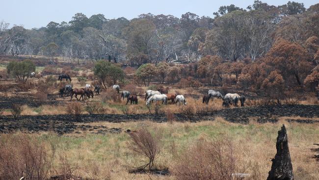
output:
<svg viewBox="0 0 319 180"><path fill-rule="evenodd" d="M139 66L136 71L136 76L144 82L145 86L150 86L150 83L156 73L156 66L151 63L146 63Z"/></svg>

